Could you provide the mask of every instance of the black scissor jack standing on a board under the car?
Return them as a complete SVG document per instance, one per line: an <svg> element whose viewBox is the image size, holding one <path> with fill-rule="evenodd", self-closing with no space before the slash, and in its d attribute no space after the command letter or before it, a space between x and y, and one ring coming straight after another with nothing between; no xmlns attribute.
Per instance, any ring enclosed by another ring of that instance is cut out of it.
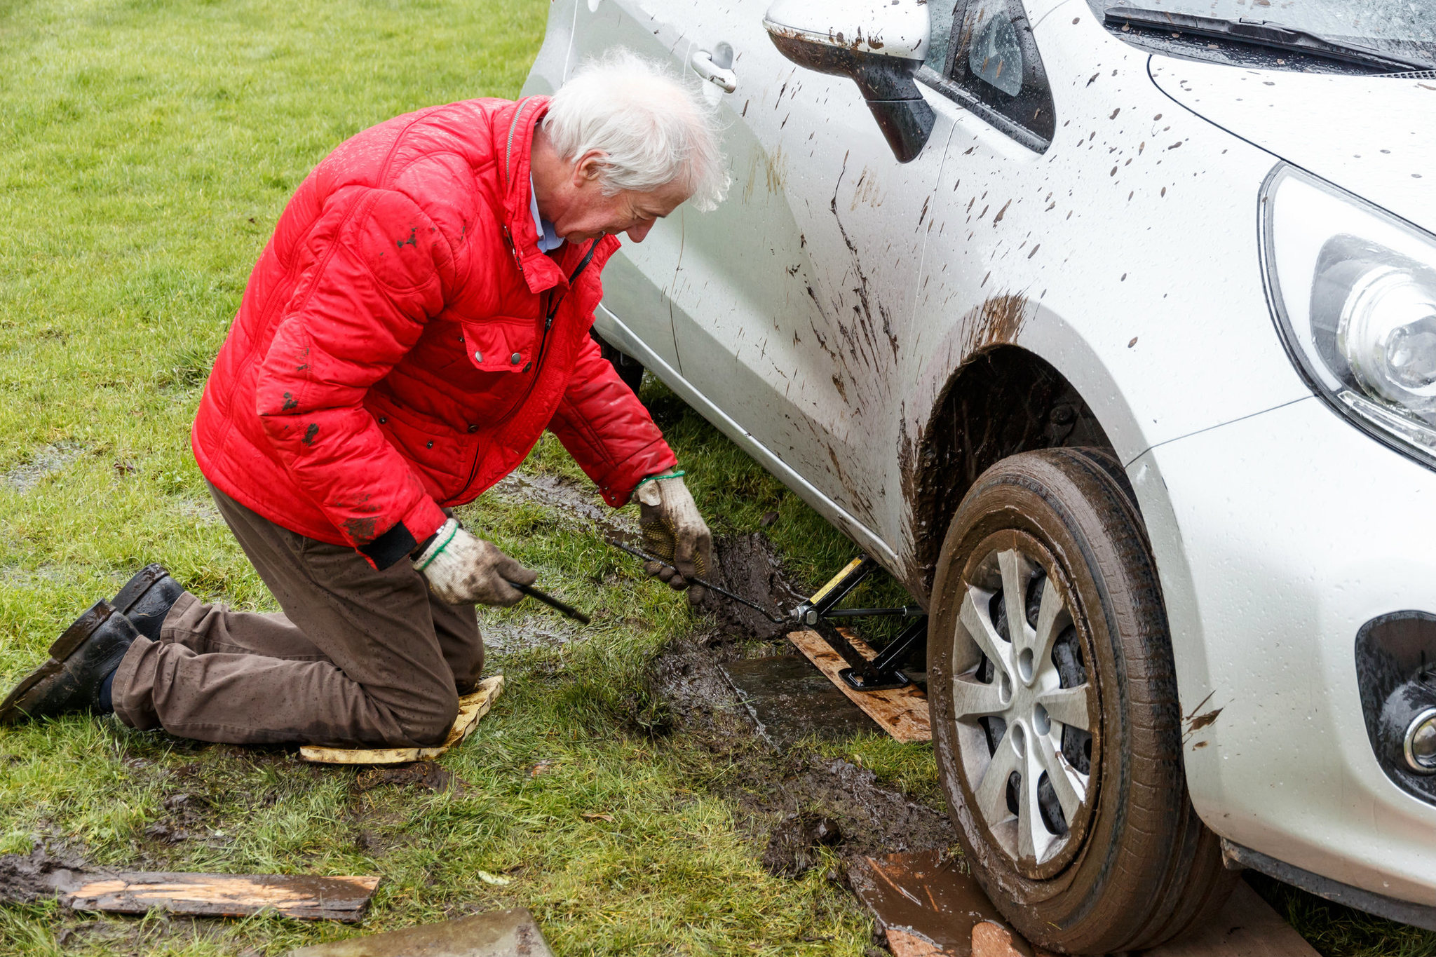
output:
<svg viewBox="0 0 1436 957"><path fill-rule="evenodd" d="M854 558L843 571L833 575L826 585L814 591L807 601L793 610L793 617L797 621L817 631L834 651L843 656L849 667L839 671L837 676L854 692L882 692L912 684L912 679L899 671L896 666L928 636L928 614L916 605L902 608L833 607L877 568L877 562L867 555ZM833 621L844 618L877 617L912 618L912 623L873 659L864 657L853 647L841 628L833 624Z"/></svg>

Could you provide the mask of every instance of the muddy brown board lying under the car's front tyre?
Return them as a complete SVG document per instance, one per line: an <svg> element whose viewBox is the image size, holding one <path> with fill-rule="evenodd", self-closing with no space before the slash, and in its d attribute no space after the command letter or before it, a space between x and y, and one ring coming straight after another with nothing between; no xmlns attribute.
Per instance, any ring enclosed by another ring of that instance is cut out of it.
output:
<svg viewBox="0 0 1436 957"><path fill-rule="evenodd" d="M895 957L1051 957L1014 933L958 859L936 851L859 858L859 900ZM1245 881L1206 925L1142 957L1317 957Z"/></svg>

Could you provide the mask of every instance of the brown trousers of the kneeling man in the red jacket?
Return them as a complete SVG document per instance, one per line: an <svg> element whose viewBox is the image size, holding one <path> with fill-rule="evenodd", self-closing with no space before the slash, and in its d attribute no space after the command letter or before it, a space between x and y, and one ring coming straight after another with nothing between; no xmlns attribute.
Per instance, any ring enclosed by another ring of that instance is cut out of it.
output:
<svg viewBox="0 0 1436 957"><path fill-rule="evenodd" d="M444 740L458 692L484 670L474 605L432 597L408 561L376 571L353 548L210 492L284 611L233 611L185 593L159 640L136 638L121 661L119 720L238 745Z"/></svg>

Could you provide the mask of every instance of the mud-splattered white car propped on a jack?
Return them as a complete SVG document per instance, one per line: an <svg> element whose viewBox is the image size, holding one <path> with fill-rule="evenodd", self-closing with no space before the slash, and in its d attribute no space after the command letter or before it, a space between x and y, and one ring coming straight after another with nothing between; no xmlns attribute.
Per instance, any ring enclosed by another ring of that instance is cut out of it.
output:
<svg viewBox="0 0 1436 957"><path fill-rule="evenodd" d="M1436 9L1139 1L554 0L524 92L707 80L729 198L597 331L925 603L1018 930L1436 928Z"/></svg>

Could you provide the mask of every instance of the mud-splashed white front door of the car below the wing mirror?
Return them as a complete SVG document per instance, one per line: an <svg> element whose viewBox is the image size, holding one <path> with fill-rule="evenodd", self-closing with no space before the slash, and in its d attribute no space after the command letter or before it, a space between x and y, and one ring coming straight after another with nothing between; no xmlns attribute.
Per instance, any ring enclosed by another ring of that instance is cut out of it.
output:
<svg viewBox="0 0 1436 957"><path fill-rule="evenodd" d="M784 59L767 0L684 4L694 52L732 50L721 93L734 184L682 208L668 294L684 377L763 446L893 541L896 382L952 122L899 164L846 77Z"/></svg>

